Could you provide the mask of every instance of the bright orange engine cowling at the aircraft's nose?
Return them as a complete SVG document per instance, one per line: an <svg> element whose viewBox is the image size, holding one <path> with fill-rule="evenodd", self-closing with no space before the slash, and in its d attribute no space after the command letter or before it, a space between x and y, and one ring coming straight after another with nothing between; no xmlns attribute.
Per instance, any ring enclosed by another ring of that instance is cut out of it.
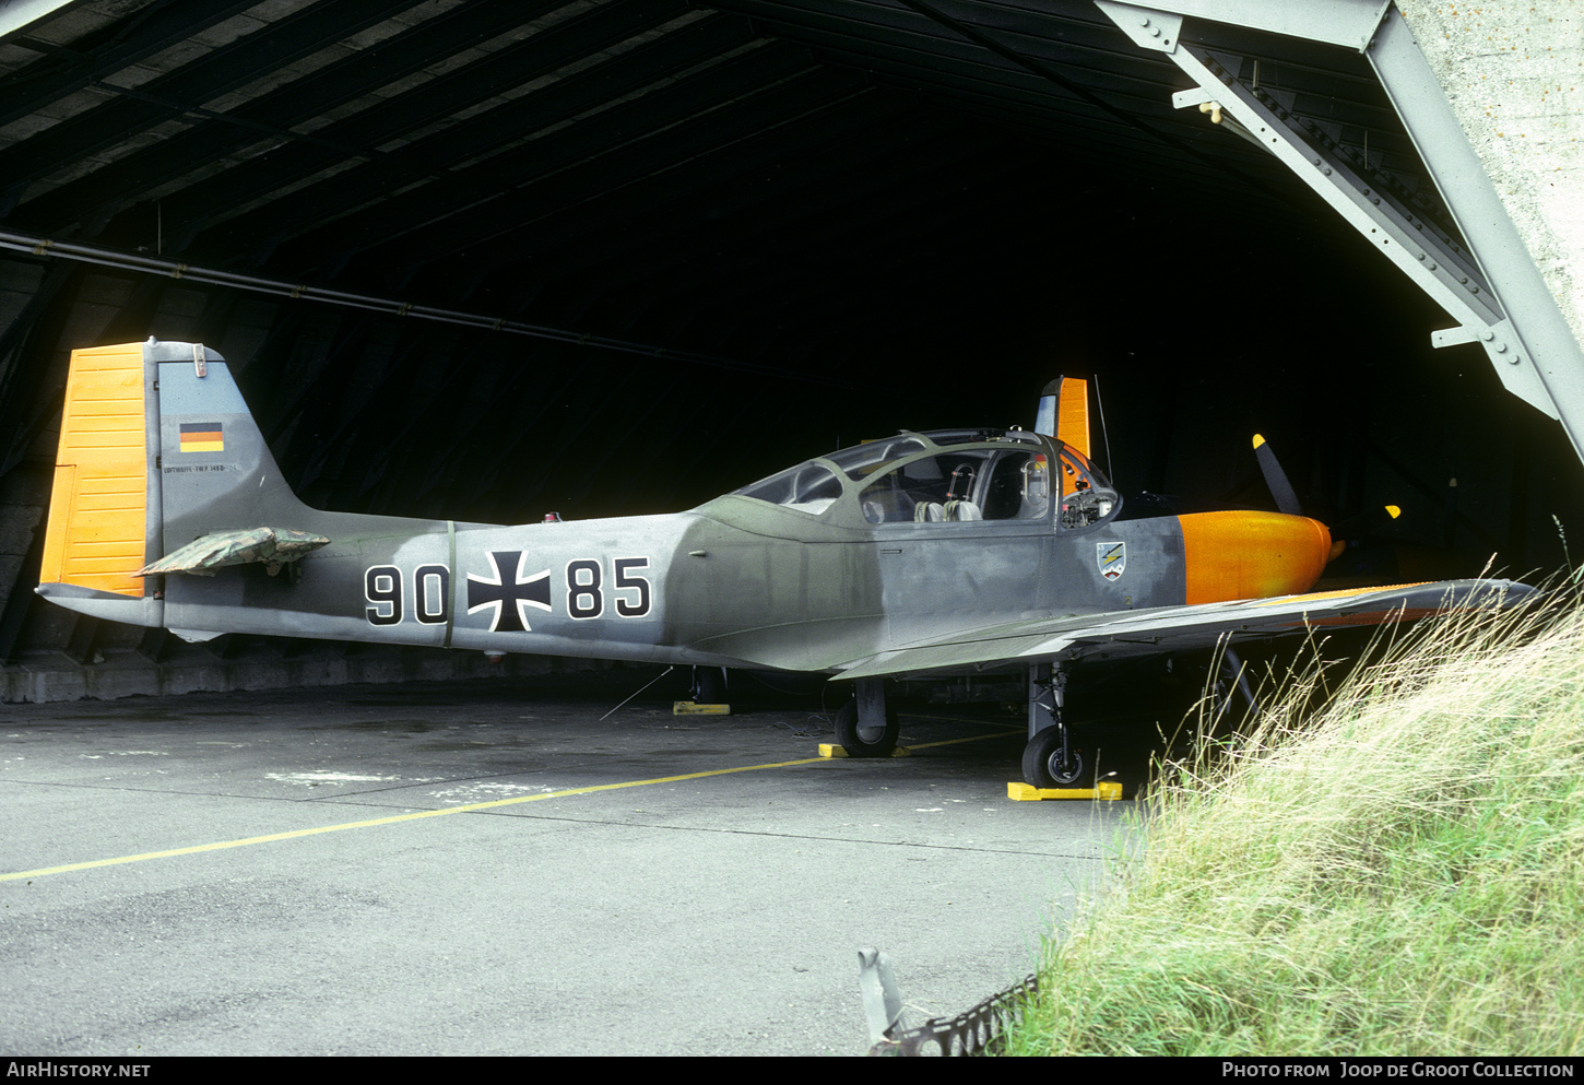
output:
<svg viewBox="0 0 1584 1085"><path fill-rule="evenodd" d="M1178 516L1188 603L1308 591L1331 556L1331 532L1308 516L1204 512Z"/></svg>

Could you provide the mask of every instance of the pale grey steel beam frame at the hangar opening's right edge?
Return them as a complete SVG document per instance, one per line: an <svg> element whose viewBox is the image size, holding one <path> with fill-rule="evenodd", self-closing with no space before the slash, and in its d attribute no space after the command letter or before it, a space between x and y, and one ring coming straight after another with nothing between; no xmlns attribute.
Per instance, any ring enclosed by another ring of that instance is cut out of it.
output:
<svg viewBox="0 0 1584 1085"><path fill-rule="evenodd" d="M1164 54L1193 79L1194 89L1172 95L1174 106L1202 108L1218 124L1226 122L1274 154L1457 322L1434 333L1434 345L1484 347L1502 385L1560 421L1584 461L1584 350L1391 0L1095 3L1136 46ZM1291 116L1291 103L1283 103L1280 92L1239 82L1234 62L1242 57L1213 48L1183 48L1185 19L1361 52L1381 81L1467 250L1361 177L1334 141Z"/></svg>

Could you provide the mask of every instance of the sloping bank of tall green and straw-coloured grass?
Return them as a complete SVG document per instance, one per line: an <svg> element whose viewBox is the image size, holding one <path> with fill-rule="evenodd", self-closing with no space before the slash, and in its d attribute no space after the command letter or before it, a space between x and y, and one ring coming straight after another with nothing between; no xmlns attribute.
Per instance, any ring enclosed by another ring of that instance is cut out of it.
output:
<svg viewBox="0 0 1584 1085"><path fill-rule="evenodd" d="M1584 1052L1579 613L1422 624L1161 776L1011 1053Z"/></svg>

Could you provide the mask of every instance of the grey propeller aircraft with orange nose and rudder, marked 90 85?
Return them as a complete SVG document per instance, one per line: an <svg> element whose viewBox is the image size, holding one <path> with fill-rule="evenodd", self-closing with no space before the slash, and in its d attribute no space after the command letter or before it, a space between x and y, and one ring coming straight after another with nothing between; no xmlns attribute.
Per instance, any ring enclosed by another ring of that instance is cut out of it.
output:
<svg viewBox="0 0 1584 1085"><path fill-rule="evenodd" d="M227 363L198 344L73 353L38 592L187 640L369 640L849 680L836 737L897 744L885 680L1026 680L1023 775L1076 782L1079 661L1514 600L1462 580L1308 592L1334 545L1299 513L1125 520L1088 458L1087 393L1034 431L900 432L681 513L455 523L322 512L280 477ZM1061 402L1061 399L1068 402Z"/></svg>

